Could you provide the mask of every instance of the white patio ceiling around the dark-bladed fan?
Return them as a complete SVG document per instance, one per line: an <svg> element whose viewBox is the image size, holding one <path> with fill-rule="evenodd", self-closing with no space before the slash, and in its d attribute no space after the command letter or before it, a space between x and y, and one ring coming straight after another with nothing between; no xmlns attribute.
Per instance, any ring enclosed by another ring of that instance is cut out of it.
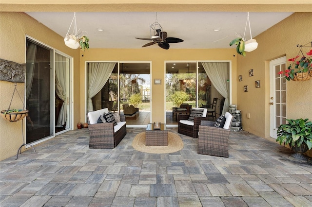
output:
<svg viewBox="0 0 312 207"><path fill-rule="evenodd" d="M43 25L65 36L74 17L73 12L26 12ZM156 21L168 37L183 39L170 43L176 49L230 48L235 33L244 35L247 12L77 12L77 29L86 31L90 48L141 48L150 38L150 25ZM252 36L261 34L291 12L250 12ZM103 32L98 32L102 28ZM214 32L214 29L219 29ZM73 26L70 33L73 31ZM250 39L249 26L246 39ZM256 39L256 38L255 38ZM234 46L232 46L234 47ZM157 44L147 48L159 48ZM160 49L160 48L159 48Z"/></svg>

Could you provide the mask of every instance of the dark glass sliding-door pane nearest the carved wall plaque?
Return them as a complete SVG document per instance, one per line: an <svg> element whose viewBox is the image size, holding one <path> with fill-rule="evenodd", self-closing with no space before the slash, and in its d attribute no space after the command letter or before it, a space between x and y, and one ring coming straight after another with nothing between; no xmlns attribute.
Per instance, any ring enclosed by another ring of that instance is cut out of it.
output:
<svg viewBox="0 0 312 207"><path fill-rule="evenodd" d="M52 50L27 39L26 143L53 135Z"/></svg>

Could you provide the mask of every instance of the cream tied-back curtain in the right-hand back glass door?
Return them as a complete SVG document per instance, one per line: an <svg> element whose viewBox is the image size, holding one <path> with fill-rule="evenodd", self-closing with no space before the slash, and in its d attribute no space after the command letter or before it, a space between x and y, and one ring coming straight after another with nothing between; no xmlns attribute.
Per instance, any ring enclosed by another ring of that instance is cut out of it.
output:
<svg viewBox="0 0 312 207"><path fill-rule="evenodd" d="M222 114L229 111L228 89L228 63L227 62L203 62L202 63L211 83L216 90L225 98Z"/></svg>

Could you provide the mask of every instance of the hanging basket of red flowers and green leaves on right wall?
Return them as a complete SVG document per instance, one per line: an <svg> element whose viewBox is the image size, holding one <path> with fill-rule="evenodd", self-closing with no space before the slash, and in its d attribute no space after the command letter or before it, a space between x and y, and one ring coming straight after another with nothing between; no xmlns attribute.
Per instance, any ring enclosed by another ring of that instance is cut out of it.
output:
<svg viewBox="0 0 312 207"><path fill-rule="evenodd" d="M285 78L288 81L291 79L293 81L307 81L312 77L312 50L306 53L306 55L309 55L308 57L301 50L300 52L302 54L301 57L297 55L294 58L288 59L288 61L292 62L288 69L278 72L280 75L285 74Z"/></svg>

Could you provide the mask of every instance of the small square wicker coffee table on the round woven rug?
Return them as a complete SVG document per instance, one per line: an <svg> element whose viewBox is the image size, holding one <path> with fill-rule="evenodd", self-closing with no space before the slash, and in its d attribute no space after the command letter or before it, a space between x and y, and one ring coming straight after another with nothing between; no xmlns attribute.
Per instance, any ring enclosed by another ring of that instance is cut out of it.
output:
<svg viewBox="0 0 312 207"><path fill-rule="evenodd" d="M168 131L166 124L160 124L160 129L154 129L154 123L147 124L145 132L146 146L167 146Z"/></svg>

